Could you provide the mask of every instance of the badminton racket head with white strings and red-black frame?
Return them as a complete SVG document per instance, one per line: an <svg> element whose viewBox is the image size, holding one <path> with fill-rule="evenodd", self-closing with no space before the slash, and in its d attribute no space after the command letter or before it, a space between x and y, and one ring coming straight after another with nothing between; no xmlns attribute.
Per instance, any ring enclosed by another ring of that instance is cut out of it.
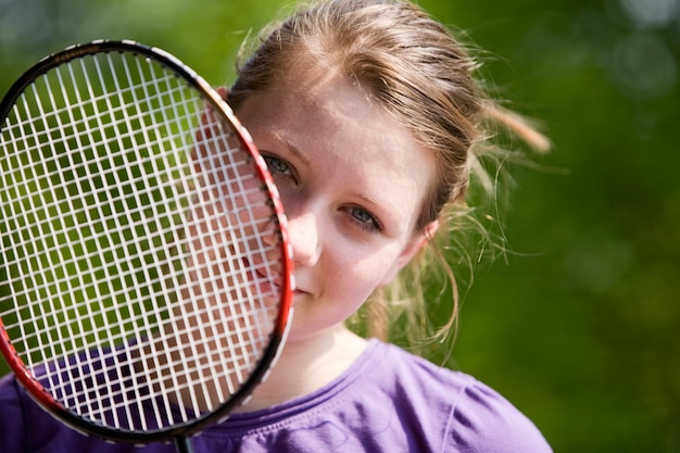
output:
<svg viewBox="0 0 680 453"><path fill-rule="evenodd" d="M147 443L245 401L290 324L276 187L173 55L93 41L0 103L0 351L75 429Z"/></svg>

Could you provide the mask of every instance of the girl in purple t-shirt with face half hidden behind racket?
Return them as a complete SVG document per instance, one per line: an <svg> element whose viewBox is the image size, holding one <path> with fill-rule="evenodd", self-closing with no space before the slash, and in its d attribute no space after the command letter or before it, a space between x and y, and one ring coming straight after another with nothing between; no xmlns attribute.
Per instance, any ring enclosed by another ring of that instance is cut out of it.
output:
<svg viewBox="0 0 680 453"><path fill-rule="evenodd" d="M483 125L501 121L541 139L484 98L476 67L412 3L323 0L266 36L223 90L281 193L295 316L270 377L193 439L197 452L551 451L483 383L347 327L372 294L399 295L386 289L448 231ZM390 303L370 303L382 307L370 331L383 336ZM62 426L11 377L0 405L5 453L138 451Z"/></svg>

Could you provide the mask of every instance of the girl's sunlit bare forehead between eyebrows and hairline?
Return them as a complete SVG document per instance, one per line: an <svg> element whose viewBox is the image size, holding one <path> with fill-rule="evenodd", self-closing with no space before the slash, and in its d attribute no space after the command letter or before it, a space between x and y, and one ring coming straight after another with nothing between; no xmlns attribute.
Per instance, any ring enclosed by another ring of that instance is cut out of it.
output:
<svg viewBox="0 0 680 453"><path fill-rule="evenodd" d="M370 199L413 229L433 156L357 85L332 73L284 80L237 114L260 148L285 144L325 183Z"/></svg>

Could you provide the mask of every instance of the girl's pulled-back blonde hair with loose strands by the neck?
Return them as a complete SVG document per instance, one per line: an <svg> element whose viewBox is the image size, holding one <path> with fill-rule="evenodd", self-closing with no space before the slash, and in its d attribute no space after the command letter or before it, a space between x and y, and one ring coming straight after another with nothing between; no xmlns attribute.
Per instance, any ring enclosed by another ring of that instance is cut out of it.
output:
<svg viewBox="0 0 680 453"><path fill-rule="evenodd" d="M351 326L387 340L393 337L390 326L406 316L411 340L432 334L450 338L458 305L455 276L446 262L446 249L456 240L450 234L455 229L459 235L461 221L474 217L463 202L471 174L478 174L484 190L495 190L479 153L492 149L486 142L499 124L539 150L547 149L547 141L519 115L489 99L474 77L478 62L446 27L408 1L322 0L301 9L263 35L254 53L237 68L229 103L238 109L250 93L310 65L332 66L358 84L432 151L438 166L416 228L439 219L441 234L432 238L423 260L376 291ZM432 323L427 319L423 287L432 261L441 264L453 291L451 316L433 330L428 328Z"/></svg>

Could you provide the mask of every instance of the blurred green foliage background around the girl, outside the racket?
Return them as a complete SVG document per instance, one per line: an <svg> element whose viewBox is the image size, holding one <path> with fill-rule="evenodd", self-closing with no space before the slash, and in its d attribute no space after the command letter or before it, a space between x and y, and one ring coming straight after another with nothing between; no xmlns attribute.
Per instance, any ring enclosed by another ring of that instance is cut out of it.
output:
<svg viewBox="0 0 680 453"><path fill-rule="evenodd" d="M519 168L454 358L556 452L680 452L680 0L421 0L554 142ZM161 47L211 84L280 0L0 0L0 93L71 43ZM4 363L0 374L4 374Z"/></svg>

